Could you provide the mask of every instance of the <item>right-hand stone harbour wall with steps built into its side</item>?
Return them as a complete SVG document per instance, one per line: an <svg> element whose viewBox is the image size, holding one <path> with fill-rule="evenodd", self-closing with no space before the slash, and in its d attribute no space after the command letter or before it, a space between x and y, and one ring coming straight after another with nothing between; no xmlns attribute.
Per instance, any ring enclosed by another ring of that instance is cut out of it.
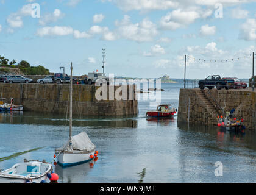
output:
<svg viewBox="0 0 256 195"><path fill-rule="evenodd" d="M225 113L235 108L235 117L244 119L246 129L256 130L256 90L180 89L179 122L216 126L222 108Z"/></svg>

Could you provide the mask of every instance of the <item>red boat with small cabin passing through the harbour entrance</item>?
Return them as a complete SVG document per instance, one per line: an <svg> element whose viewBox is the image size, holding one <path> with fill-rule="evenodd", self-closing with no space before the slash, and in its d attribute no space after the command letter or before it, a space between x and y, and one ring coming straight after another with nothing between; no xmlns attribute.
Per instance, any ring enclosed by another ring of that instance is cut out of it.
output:
<svg viewBox="0 0 256 195"><path fill-rule="evenodd" d="M158 105L157 110L154 111L148 111L146 113L146 116L152 116L152 117L171 117L174 114L176 114L177 109L174 107L171 107L169 104L165 105Z"/></svg>

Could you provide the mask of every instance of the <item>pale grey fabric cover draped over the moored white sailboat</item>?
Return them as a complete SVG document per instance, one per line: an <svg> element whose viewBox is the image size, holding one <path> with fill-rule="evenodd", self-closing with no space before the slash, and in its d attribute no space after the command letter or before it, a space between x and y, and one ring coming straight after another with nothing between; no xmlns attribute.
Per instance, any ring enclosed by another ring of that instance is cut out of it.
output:
<svg viewBox="0 0 256 195"><path fill-rule="evenodd" d="M94 151L96 146L91 142L87 133L81 132L79 135L71 137L71 146L69 146L69 141L63 147L56 149L56 151L63 150L75 150L75 151Z"/></svg>

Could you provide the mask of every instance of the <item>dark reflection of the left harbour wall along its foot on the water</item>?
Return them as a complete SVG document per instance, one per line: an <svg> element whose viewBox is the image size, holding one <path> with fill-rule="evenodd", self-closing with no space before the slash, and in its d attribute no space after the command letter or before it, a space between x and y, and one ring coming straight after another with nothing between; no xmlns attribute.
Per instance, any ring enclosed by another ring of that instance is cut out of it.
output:
<svg viewBox="0 0 256 195"><path fill-rule="evenodd" d="M66 120L66 115L57 113L12 112L0 113L0 123L68 126L69 120ZM113 118L74 115L73 126L137 128L138 124L137 119L133 117Z"/></svg>

